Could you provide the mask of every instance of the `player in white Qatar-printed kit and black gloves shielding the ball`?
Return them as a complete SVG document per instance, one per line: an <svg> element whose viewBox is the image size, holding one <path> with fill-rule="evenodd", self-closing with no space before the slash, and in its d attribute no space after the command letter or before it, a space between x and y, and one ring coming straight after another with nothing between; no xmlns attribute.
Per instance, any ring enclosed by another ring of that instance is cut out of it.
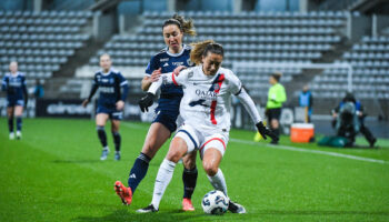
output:
<svg viewBox="0 0 389 222"><path fill-rule="evenodd" d="M152 99L162 84L172 82L183 88L180 114L184 123L172 139L169 152L159 168L152 202L149 206L138 210L140 213L158 211L177 162L197 150L200 151L202 167L209 181L216 190L227 195L227 184L219 164L229 140L232 94L243 103L259 133L265 139L269 135L278 140L263 127L262 119L240 80L231 70L220 67L223 59L223 49L220 44L213 41L196 43L190 58L198 64L197 67L186 69L178 77L174 73L163 74L160 81L152 83L147 97L139 102L143 111L152 104ZM231 201L229 210L233 213L246 212L242 205Z"/></svg>

